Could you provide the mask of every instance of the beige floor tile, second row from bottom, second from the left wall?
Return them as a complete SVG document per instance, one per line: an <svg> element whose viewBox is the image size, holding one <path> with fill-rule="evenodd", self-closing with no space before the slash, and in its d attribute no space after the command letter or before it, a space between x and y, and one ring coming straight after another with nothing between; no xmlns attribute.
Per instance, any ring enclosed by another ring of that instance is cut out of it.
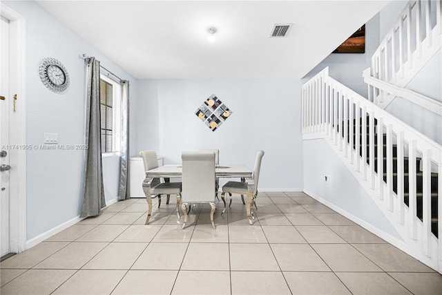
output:
<svg viewBox="0 0 442 295"><path fill-rule="evenodd" d="M107 242L71 242L57 253L35 265L34 268L80 269L107 245Z"/></svg>

